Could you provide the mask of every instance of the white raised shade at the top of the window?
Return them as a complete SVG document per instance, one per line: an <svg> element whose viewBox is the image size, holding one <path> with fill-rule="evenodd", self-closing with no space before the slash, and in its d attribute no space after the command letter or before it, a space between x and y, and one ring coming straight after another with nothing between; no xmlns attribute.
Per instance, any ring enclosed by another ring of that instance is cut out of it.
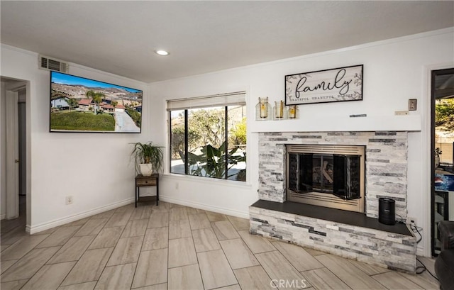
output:
<svg viewBox="0 0 454 290"><path fill-rule="evenodd" d="M195 98L168 100L167 111L218 106L244 106L245 104L245 91L236 91L234 93L228 94L216 94L212 96L199 96Z"/></svg>

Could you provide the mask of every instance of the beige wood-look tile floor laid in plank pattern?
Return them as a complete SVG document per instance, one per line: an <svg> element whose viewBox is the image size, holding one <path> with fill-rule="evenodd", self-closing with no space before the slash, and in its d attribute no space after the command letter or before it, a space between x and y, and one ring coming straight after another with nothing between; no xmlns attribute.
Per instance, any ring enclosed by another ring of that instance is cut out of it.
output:
<svg viewBox="0 0 454 290"><path fill-rule="evenodd" d="M427 272L268 240L250 235L246 219L172 203L131 204L35 235L18 221L1 225L2 290L439 289Z"/></svg>

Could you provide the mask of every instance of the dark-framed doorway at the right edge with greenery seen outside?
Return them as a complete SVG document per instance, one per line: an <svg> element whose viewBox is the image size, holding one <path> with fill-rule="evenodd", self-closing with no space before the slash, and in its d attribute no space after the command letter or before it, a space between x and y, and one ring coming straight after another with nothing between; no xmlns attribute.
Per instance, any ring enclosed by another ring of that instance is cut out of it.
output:
<svg viewBox="0 0 454 290"><path fill-rule="evenodd" d="M438 223L454 221L454 68L431 72L431 249L441 250Z"/></svg>

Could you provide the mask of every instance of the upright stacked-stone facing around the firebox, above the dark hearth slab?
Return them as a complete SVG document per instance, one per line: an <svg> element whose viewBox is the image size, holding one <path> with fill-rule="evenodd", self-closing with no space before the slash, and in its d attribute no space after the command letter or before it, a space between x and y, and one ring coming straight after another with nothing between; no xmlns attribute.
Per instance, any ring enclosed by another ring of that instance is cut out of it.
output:
<svg viewBox="0 0 454 290"><path fill-rule="evenodd" d="M378 199L396 201L406 219L407 132L259 133L259 199L286 200L286 145L365 146L365 213L378 217Z"/></svg>

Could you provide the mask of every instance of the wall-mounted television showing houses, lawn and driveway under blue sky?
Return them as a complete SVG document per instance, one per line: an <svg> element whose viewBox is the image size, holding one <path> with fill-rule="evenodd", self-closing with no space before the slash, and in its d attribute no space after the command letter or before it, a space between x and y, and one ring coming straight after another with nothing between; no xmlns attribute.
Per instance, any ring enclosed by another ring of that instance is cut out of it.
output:
<svg viewBox="0 0 454 290"><path fill-rule="evenodd" d="M50 72L50 132L140 133L143 91Z"/></svg>

